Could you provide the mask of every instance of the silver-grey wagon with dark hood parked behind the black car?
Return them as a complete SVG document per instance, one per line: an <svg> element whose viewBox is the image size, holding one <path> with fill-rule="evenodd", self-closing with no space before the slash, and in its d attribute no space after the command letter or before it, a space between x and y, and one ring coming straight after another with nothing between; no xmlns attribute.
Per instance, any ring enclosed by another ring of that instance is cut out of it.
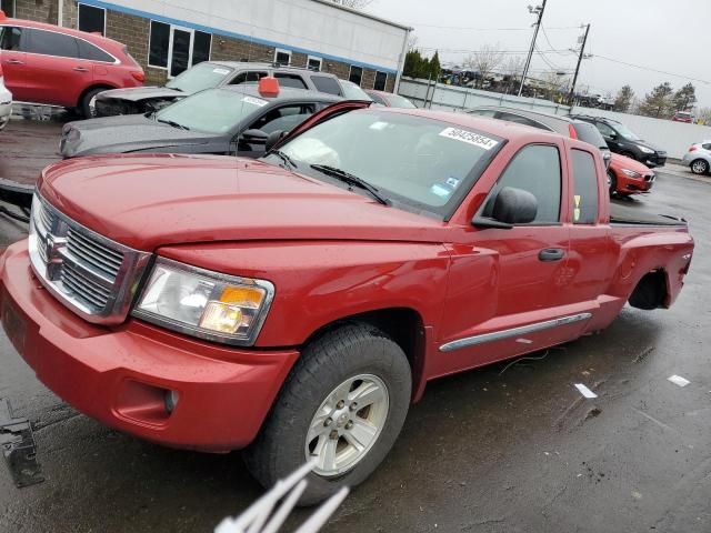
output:
<svg viewBox="0 0 711 533"><path fill-rule="evenodd" d="M149 113L206 89L257 83L264 77L277 78L282 87L350 98L341 86L343 82L327 72L272 63L206 61L186 70L164 87L102 92L97 97L97 117Z"/></svg>

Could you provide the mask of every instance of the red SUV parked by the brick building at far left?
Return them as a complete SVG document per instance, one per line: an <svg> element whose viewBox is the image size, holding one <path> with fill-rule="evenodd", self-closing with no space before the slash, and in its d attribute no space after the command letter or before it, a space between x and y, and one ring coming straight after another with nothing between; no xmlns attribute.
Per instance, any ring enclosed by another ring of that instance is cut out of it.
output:
<svg viewBox="0 0 711 533"><path fill-rule="evenodd" d="M91 117L101 91L143 84L143 69L124 44L100 34L0 11L0 60L14 100L76 108Z"/></svg>

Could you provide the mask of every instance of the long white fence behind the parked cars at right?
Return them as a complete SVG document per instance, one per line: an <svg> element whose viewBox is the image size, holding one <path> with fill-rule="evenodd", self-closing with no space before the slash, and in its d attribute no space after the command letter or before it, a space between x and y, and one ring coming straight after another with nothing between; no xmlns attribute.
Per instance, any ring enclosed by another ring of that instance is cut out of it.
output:
<svg viewBox="0 0 711 533"><path fill-rule="evenodd" d="M467 89L463 87L428 83L427 80L403 78L400 94L409 98L418 107L432 101L432 109L462 111L479 105L507 105L552 114L569 114L571 108L537 98L521 98L512 94ZM428 107L429 103L428 103ZM694 142L711 140L711 127L672 122L637 114L617 113L591 108L572 108L573 113L607 117L624 123L630 130L652 144L667 150L670 158L681 159Z"/></svg>

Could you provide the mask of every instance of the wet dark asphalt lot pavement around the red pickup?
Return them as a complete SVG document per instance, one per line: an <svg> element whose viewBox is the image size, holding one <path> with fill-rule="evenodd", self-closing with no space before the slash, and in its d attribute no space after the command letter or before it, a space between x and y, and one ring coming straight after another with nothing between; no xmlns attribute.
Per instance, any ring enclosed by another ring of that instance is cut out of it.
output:
<svg viewBox="0 0 711 533"><path fill-rule="evenodd" d="M675 305L625 308L600 334L431 383L326 531L711 531L711 187L671 170L627 204L690 221L697 250ZM2 220L0 235L22 230ZM211 532L262 493L239 452L168 450L77 413L3 334L0 398L32 421L47 476L19 490L0 464L2 533Z"/></svg>

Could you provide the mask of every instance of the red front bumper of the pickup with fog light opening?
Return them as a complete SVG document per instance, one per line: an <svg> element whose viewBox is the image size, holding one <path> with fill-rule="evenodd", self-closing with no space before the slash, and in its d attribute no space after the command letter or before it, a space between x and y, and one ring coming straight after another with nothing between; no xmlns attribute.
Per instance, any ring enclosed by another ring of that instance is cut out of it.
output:
<svg viewBox="0 0 711 533"><path fill-rule="evenodd" d="M299 355L222 348L136 320L116 329L89 324L42 288L27 241L0 258L0 313L20 355L62 400L108 426L173 447L248 445Z"/></svg>

